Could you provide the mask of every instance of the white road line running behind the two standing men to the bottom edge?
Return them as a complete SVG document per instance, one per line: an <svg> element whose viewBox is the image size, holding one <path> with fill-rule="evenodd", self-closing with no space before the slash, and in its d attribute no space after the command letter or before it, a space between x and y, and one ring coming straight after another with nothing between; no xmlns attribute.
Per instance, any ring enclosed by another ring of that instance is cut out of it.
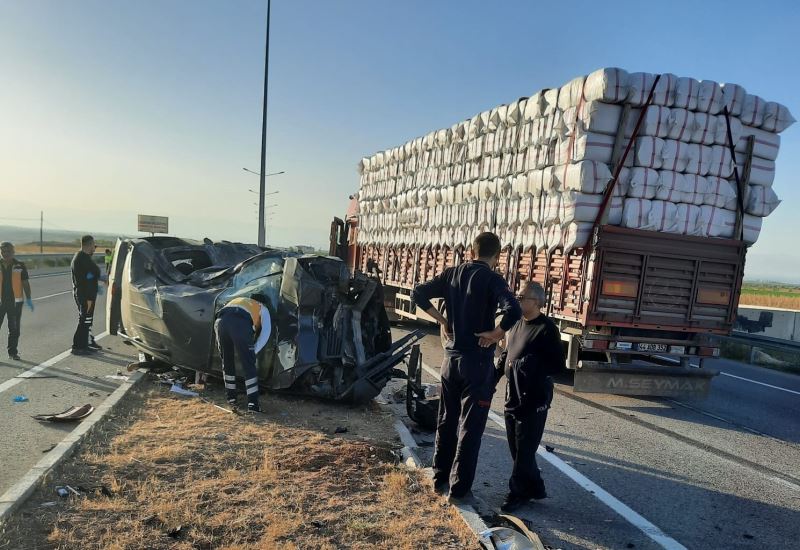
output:
<svg viewBox="0 0 800 550"><path fill-rule="evenodd" d="M426 365L425 363L422 364L422 368L435 378L439 378L439 373ZM497 424L505 433L506 423L494 411L489 412L489 418ZM575 468L558 458L553 453L548 453L546 449L544 449L541 445L539 449L536 451L536 454L542 457L544 460L549 462L553 467L559 470L561 473L566 475L572 481L589 491L592 495L595 496L600 502L614 510L620 516L622 516L628 523L639 529L642 533L644 533L650 540L665 548L667 550L687 550L685 546L681 543L664 533L661 529L656 527L654 524L649 522L646 518L644 518L639 513L635 512L632 508L628 505L614 497L611 493L597 485L594 481L577 471Z"/></svg>

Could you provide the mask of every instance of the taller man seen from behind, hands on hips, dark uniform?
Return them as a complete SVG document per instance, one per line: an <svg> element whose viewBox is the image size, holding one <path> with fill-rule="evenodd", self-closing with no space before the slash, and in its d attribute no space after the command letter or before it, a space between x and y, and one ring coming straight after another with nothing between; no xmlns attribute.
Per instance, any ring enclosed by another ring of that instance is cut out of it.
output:
<svg viewBox="0 0 800 550"><path fill-rule="evenodd" d="M418 285L416 304L436 319L447 336L442 363L442 396L433 456L434 486L450 502L469 499L481 437L494 393L494 348L520 318L517 300L494 267L500 239L481 233L473 243L477 260L450 267ZM444 299L446 316L431 303ZM503 314L495 326L498 307Z"/></svg>

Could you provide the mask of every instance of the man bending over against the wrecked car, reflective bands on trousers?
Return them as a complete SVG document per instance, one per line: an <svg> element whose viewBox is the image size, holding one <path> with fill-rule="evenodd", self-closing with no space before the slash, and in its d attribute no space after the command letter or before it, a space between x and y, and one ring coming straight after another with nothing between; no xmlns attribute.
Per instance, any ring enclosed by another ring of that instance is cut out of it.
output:
<svg viewBox="0 0 800 550"><path fill-rule="evenodd" d="M267 299L263 294L253 294L250 298L234 298L219 310L214 322L228 403L236 406L235 349L245 376L247 410L250 412L261 412L258 403L256 355L267 344L272 331L269 310L264 306L266 303Z"/></svg>

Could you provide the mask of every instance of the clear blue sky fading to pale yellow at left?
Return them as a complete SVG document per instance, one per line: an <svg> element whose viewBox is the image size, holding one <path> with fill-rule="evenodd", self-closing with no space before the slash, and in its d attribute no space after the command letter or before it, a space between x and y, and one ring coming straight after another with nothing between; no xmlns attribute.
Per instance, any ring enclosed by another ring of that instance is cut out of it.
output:
<svg viewBox="0 0 800 550"><path fill-rule="evenodd" d="M274 0L267 240L327 247L358 160L607 66L800 118L800 3ZM0 225L257 235L266 2L0 0ZM800 124L746 276L800 281Z"/></svg>

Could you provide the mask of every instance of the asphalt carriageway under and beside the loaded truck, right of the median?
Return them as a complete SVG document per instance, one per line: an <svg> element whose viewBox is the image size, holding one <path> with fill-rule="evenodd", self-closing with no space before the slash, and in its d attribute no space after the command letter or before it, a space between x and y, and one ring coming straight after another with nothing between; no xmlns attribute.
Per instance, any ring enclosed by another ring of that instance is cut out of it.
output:
<svg viewBox="0 0 800 550"><path fill-rule="evenodd" d="M434 382L438 336L422 353ZM537 459L550 496L519 515L553 548L800 547L800 377L713 368L722 374L703 400L576 394L561 380L542 441L553 452ZM483 514L499 507L511 468L504 384L473 486ZM433 435L405 420L430 463Z"/></svg>

